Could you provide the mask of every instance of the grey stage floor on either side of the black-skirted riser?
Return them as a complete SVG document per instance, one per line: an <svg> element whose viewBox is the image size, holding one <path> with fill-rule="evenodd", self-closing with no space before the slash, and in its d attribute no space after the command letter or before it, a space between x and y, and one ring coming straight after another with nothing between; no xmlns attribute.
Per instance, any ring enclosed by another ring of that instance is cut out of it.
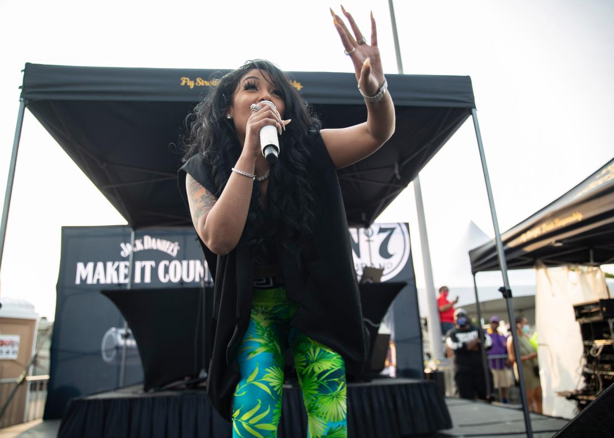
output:
<svg viewBox="0 0 614 438"><path fill-rule="evenodd" d="M524 436L524 421L521 410L456 398L446 399L446 405L448 405L454 427L447 431L421 434L418 437L519 438ZM569 420L546 417L545 415L531 415L535 438L552 437L567 421ZM0 438L55 438L58 436L59 420L43 421L42 423L32 421L31 423L36 424L31 425L27 430L23 427L20 428L21 433L4 435L2 432L9 432L9 429L12 428L2 429Z"/></svg>

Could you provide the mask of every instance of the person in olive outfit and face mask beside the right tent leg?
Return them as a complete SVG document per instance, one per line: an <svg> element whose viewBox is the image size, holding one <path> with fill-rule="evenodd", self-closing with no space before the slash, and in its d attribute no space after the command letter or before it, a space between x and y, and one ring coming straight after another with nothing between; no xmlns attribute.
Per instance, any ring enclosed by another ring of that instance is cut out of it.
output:
<svg viewBox="0 0 614 438"><path fill-rule="evenodd" d="M524 386L527 393L527 403L532 412L542 413L542 382L539 378L537 352L530 342L531 328L529 321L524 317L516 317L516 337L520 350L520 361L523 366ZM514 335L512 335L514 336ZM507 355L514 364L514 374L518 380L518 361L514 354L514 345L511 336L507 339Z"/></svg>

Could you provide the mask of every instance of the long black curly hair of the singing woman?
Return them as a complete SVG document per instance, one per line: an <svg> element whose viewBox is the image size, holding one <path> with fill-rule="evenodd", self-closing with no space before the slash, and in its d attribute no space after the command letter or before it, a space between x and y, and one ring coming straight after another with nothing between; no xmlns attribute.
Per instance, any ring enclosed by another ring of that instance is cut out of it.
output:
<svg viewBox="0 0 614 438"><path fill-rule="evenodd" d="M292 248L298 256L311 236L314 220L313 187L308 178L311 168L308 145L318 135L321 122L290 83L290 77L265 60L247 61L225 75L212 75L210 82L217 84L186 117L188 135L184 139L182 161L185 163L196 153L202 153L204 161L211 167L211 180L216 185L214 194L219 198L230 177L230 169L243 148L233 121L227 119L226 114L239 80L252 69L270 75L286 107L284 118L292 119L279 137L281 153L278 163L271 166L266 191L268 211L265 213L260 206L262 195L254 187L245 231L239 240L239 245L253 245L256 261L263 263L268 255L267 248L272 247L274 240Z"/></svg>

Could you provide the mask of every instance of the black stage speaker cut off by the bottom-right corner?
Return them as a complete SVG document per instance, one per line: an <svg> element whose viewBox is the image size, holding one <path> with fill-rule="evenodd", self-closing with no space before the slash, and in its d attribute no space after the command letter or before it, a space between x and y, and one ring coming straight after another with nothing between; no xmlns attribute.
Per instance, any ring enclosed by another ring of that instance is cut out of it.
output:
<svg viewBox="0 0 614 438"><path fill-rule="evenodd" d="M612 436L614 431L614 385L599 394L553 438L591 438Z"/></svg>

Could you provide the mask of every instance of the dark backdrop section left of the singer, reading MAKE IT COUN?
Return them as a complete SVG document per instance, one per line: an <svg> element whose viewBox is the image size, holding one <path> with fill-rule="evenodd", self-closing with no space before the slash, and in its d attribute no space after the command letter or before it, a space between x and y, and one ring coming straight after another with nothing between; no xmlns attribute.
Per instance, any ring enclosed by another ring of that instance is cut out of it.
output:
<svg viewBox="0 0 614 438"><path fill-rule="evenodd" d="M60 418L72 397L117 388L120 379L123 317L100 291L127 286L130 228L63 227L61 242L44 418ZM134 260L134 289L194 288L206 275L193 228L137 231ZM160 323L170 329L171 319ZM125 383L142 382L134 341L127 352Z"/></svg>

